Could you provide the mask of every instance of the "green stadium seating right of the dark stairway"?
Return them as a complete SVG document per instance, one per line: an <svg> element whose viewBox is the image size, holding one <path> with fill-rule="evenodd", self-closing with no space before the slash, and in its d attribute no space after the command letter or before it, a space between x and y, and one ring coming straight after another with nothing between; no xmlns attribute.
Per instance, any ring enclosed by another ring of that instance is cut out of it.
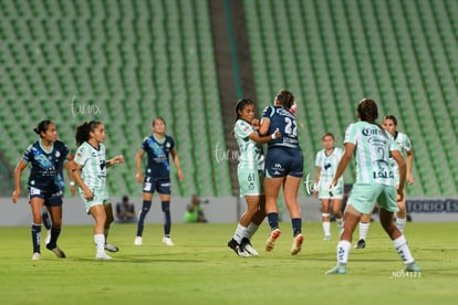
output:
<svg viewBox="0 0 458 305"><path fill-rule="evenodd" d="M357 102L398 117L415 147L410 196L456 196L456 1L244 1L260 107L281 87L299 98L305 171L320 136L342 145ZM347 181L354 179L350 171Z"/></svg>

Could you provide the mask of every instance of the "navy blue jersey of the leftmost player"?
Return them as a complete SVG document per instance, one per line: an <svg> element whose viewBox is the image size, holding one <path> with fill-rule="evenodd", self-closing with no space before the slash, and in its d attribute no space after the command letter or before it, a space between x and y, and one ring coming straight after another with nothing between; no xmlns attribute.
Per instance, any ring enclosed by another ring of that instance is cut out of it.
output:
<svg viewBox="0 0 458 305"><path fill-rule="evenodd" d="M63 164L67 155L69 148L60 140L52 144L51 150L45 150L41 146L41 140L30 145L22 156L31 166L28 186L49 192L62 190Z"/></svg>

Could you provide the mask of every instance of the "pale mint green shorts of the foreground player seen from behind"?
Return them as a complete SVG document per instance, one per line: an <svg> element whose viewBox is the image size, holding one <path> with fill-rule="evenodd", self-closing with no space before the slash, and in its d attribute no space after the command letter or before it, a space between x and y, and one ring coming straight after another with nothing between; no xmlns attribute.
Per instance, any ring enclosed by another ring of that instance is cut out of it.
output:
<svg viewBox="0 0 458 305"><path fill-rule="evenodd" d="M372 213L378 203L381 209L388 212L397 212L396 188L378 183L354 183L348 197L348 204L363 214Z"/></svg>

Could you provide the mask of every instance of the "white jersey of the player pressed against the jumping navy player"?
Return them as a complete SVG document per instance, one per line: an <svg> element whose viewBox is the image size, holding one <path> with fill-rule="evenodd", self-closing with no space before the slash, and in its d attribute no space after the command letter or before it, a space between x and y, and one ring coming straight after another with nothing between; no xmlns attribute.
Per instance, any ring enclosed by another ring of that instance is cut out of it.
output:
<svg viewBox="0 0 458 305"><path fill-rule="evenodd" d="M262 147L248 136L256 133L253 127L243 119L238 119L233 127L237 144L239 145L239 167L244 169L264 169L264 155Z"/></svg>

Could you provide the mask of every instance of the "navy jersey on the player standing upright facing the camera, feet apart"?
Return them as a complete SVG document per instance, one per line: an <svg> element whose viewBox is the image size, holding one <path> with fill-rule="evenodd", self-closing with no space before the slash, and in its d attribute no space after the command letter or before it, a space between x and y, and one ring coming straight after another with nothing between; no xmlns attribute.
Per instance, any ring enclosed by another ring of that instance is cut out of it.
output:
<svg viewBox="0 0 458 305"><path fill-rule="evenodd" d="M142 143L142 149L148 154L148 165L145 170L145 177L154 178L169 178L170 164L168 155L175 147L175 141L171 137L165 136L162 141L158 141L154 135L146 137Z"/></svg>

